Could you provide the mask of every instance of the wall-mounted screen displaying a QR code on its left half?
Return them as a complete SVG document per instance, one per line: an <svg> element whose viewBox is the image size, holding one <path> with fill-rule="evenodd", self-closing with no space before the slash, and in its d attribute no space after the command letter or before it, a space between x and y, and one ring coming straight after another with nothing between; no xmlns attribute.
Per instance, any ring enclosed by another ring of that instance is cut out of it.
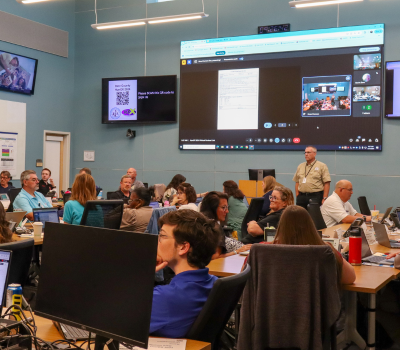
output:
<svg viewBox="0 0 400 350"><path fill-rule="evenodd" d="M175 122L176 75L103 79L103 124Z"/></svg>

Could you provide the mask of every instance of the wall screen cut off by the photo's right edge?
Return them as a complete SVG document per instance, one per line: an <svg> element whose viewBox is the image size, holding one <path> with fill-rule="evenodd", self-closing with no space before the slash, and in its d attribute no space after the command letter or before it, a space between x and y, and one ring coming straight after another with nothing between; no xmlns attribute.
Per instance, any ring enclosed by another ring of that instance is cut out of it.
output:
<svg viewBox="0 0 400 350"><path fill-rule="evenodd" d="M386 62L385 115L400 118L400 61Z"/></svg>

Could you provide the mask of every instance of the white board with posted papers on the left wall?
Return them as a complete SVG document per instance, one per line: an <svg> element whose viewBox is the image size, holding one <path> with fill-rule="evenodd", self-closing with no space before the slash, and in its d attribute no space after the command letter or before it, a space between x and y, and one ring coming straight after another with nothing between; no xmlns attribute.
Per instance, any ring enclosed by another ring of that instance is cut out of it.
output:
<svg viewBox="0 0 400 350"><path fill-rule="evenodd" d="M0 100L0 172L18 180L25 170L26 103Z"/></svg>

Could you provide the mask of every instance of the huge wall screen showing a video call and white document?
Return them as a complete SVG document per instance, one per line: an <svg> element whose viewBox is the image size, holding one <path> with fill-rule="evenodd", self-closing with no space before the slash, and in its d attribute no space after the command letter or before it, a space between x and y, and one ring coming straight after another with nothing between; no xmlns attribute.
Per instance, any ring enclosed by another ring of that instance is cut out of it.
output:
<svg viewBox="0 0 400 350"><path fill-rule="evenodd" d="M182 41L179 148L381 151L383 52L383 24Z"/></svg>

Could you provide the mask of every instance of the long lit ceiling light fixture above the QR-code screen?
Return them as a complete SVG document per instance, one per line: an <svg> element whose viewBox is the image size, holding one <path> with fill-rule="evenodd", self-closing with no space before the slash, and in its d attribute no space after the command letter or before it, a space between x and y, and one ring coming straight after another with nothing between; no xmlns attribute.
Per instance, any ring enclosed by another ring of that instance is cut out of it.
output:
<svg viewBox="0 0 400 350"><path fill-rule="evenodd" d="M92 24L92 28L114 29L114 28L122 28L122 27L140 26L140 25L144 25L146 23L156 24L156 23L175 22L175 21L187 21L187 20L191 20L191 19L204 18L204 17L208 17L208 16L209 15L204 12L197 12L197 13L188 13L188 14L174 15L174 16L142 18L142 19L135 19L135 20L131 20L131 21L96 23L96 24Z"/></svg>

